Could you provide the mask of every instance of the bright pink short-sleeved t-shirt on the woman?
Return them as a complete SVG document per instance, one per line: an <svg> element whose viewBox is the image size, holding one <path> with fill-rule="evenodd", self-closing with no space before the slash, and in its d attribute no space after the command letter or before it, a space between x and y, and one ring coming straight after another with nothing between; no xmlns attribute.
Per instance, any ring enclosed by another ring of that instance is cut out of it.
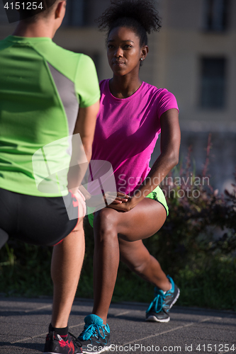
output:
<svg viewBox="0 0 236 354"><path fill-rule="evenodd" d="M117 190L132 195L150 171L162 113L171 108L179 110L176 98L167 89L146 82L128 98L114 97L109 79L101 81L100 89L92 160L109 161Z"/></svg>

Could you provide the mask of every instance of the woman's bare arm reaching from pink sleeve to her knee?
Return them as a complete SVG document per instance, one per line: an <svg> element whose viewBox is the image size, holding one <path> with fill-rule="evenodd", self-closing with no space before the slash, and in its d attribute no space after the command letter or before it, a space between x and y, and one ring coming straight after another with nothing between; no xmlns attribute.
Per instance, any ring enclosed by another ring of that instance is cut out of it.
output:
<svg viewBox="0 0 236 354"><path fill-rule="evenodd" d="M161 115L161 154L155 161L150 173L142 184L135 190L133 198L120 205L109 205L116 210L128 212L143 200L154 188L161 183L169 171L179 162L179 147L181 132L179 128L179 113L175 108Z"/></svg>

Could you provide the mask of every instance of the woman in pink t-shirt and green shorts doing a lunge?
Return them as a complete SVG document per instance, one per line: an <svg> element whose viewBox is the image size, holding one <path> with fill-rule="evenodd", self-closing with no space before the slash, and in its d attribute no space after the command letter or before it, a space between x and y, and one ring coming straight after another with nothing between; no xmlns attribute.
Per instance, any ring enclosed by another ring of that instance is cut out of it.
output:
<svg viewBox="0 0 236 354"><path fill-rule="evenodd" d="M160 28L151 0L112 1L99 18L108 30L106 44L113 78L100 83L101 108L92 160L109 161L118 192L109 207L89 215L94 222L94 309L79 336L84 353L100 353L110 345L106 317L116 283L119 261L155 285L146 320L167 322L179 289L150 256L142 239L157 232L168 215L159 183L179 160L178 106L166 89L142 82L140 64L148 53L147 33ZM152 169L150 156L162 130L161 154ZM94 219L94 220L93 220Z"/></svg>

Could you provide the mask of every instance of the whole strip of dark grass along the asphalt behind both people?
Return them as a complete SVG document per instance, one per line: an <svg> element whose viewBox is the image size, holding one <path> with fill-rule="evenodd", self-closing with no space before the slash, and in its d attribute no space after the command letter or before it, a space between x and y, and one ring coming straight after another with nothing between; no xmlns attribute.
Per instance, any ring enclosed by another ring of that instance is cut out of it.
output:
<svg viewBox="0 0 236 354"><path fill-rule="evenodd" d="M22 255L23 251L23 255ZM50 257L52 249L21 244L0 251L0 292L6 296L52 296ZM236 258L199 258L173 276L181 290L181 306L231 309L236 311ZM77 297L93 298L92 257L86 253ZM153 285L140 279L120 263L113 301L150 302Z"/></svg>

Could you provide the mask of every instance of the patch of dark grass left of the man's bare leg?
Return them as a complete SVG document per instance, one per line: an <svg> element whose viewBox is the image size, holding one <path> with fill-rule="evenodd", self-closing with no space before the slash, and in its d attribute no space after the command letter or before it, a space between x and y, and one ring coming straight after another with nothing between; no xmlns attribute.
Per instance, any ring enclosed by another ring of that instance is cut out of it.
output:
<svg viewBox="0 0 236 354"><path fill-rule="evenodd" d="M52 295L52 249L11 242L0 251L0 292L8 296Z"/></svg>

